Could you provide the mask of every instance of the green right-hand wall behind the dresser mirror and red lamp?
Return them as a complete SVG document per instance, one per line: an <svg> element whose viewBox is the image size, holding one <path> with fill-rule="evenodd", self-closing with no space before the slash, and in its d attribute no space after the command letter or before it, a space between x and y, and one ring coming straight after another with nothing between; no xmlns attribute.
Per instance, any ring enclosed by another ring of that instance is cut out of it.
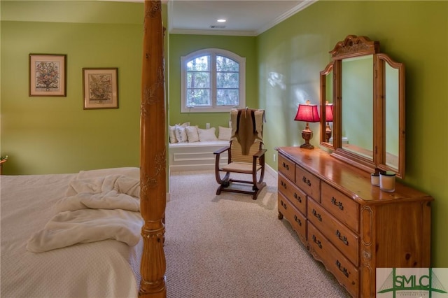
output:
<svg viewBox="0 0 448 298"><path fill-rule="evenodd" d="M259 106L267 110L265 144L276 169L276 146L302 143L297 104L319 99L319 71L347 35L379 41L381 51L406 68L406 176L404 183L433 202L433 267L448 267L448 1L318 1L257 38ZM272 73L281 82L272 84ZM318 146L318 124L311 143ZM406 229L406 227L403 227Z"/></svg>

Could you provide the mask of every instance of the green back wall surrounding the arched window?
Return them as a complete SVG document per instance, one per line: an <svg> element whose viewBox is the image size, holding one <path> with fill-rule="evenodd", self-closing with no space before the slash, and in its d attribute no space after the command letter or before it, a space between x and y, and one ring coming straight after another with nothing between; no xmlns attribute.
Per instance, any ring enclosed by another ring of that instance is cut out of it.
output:
<svg viewBox="0 0 448 298"><path fill-rule="evenodd" d="M181 56L204 48L221 48L246 57L246 106L258 108L255 37L169 35L169 124L190 122L205 128L229 126L229 113L181 113Z"/></svg>

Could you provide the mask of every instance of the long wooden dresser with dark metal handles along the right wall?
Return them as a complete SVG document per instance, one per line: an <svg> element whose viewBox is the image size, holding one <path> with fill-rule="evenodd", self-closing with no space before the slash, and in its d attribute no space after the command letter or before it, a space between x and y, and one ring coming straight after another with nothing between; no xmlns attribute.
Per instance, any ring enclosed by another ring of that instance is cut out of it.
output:
<svg viewBox="0 0 448 298"><path fill-rule="evenodd" d="M375 297L377 267L430 267L432 197L398 182L383 192L320 149L276 150L279 219L353 297Z"/></svg>

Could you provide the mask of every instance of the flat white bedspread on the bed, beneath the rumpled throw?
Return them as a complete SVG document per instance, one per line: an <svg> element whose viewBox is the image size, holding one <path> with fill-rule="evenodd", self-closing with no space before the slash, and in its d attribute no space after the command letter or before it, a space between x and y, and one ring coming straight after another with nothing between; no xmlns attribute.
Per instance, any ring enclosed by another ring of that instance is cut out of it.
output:
<svg viewBox="0 0 448 298"><path fill-rule="evenodd" d="M143 242L80 243L31 253L27 241L55 215L73 178L124 174L137 168L78 174L0 176L1 297L137 297Z"/></svg>

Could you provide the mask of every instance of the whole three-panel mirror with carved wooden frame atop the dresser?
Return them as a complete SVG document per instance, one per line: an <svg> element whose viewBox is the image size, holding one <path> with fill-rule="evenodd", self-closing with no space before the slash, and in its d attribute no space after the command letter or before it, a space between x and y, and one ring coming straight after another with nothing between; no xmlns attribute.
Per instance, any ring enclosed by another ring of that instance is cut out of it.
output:
<svg viewBox="0 0 448 298"><path fill-rule="evenodd" d="M349 35L330 53L332 62L320 73L321 146L365 171L403 178L403 64L379 53L379 42L366 36ZM325 121L331 111L332 122Z"/></svg>

